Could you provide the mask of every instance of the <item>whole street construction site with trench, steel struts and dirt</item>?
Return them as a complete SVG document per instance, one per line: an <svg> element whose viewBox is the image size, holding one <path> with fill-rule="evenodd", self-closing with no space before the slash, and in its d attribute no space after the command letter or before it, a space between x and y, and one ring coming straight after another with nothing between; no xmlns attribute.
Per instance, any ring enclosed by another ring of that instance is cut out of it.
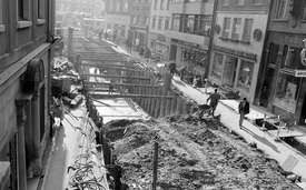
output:
<svg viewBox="0 0 306 190"><path fill-rule="evenodd" d="M42 189L303 189L305 162L279 162L224 114L207 114L167 68L160 74L122 47L72 28L65 46L53 69L61 87L52 90L63 94L66 114L63 127L55 124Z"/></svg>

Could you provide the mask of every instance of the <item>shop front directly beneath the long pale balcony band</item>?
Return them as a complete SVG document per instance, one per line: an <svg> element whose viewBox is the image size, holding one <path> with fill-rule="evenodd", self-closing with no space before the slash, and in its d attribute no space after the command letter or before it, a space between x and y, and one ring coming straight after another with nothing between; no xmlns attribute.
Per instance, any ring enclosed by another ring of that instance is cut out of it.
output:
<svg viewBox="0 0 306 190"><path fill-rule="evenodd" d="M206 47L175 39L171 40L170 46L170 60L175 60L178 68L187 66L187 70L205 77L208 66Z"/></svg>

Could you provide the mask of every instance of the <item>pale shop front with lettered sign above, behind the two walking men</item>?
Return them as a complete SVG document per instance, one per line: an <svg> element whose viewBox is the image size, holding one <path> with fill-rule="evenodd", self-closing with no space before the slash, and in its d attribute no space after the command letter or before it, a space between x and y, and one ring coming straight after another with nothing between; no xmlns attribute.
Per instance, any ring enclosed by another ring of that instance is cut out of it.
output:
<svg viewBox="0 0 306 190"><path fill-rule="evenodd" d="M219 87L238 91L254 99L257 54L220 46L213 47L213 66L209 79Z"/></svg>

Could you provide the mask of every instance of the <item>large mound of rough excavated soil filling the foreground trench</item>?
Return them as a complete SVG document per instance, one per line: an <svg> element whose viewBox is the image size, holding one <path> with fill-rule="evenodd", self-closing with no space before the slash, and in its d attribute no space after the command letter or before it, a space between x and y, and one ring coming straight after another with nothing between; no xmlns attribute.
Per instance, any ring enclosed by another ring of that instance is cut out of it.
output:
<svg viewBox="0 0 306 190"><path fill-rule="evenodd" d="M297 190L278 163L216 120L193 116L161 120L118 120L106 124L122 167L121 182L152 189L154 144L158 149L160 190Z"/></svg>

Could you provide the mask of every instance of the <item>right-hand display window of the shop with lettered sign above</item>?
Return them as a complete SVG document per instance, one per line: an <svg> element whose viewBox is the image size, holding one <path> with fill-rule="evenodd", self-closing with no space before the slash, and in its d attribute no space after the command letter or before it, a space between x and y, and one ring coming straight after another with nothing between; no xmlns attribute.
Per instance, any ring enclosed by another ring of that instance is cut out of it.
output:
<svg viewBox="0 0 306 190"><path fill-rule="evenodd" d="M249 91L251 86L253 70L254 70L253 62L241 60L237 87L246 91Z"/></svg>

